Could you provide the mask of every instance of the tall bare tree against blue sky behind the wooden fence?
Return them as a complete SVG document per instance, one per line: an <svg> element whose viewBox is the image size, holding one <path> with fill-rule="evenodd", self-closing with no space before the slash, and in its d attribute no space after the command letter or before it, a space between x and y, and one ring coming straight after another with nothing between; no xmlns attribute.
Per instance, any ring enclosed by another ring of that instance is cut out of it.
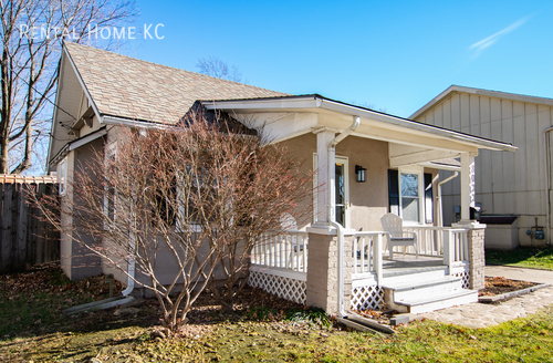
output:
<svg viewBox="0 0 553 363"><path fill-rule="evenodd" d="M108 48L94 31L135 15L134 0L0 0L0 173L30 168L33 145L48 135L62 41Z"/></svg>

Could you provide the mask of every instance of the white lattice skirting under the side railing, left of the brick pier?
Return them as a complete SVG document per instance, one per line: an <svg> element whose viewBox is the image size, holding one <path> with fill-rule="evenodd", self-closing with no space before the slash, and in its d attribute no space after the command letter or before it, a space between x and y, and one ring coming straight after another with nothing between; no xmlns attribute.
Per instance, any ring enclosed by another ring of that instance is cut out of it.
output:
<svg viewBox="0 0 553 363"><path fill-rule="evenodd" d="M282 299L301 304L305 303L307 290L307 283L305 281L258 271L250 271L248 284L253 288L263 289L264 291L275 294Z"/></svg>

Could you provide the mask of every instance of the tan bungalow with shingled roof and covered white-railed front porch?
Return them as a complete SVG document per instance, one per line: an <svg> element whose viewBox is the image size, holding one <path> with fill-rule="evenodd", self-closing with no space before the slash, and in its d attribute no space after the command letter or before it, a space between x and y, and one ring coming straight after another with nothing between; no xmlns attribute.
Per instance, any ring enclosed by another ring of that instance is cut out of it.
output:
<svg viewBox="0 0 553 363"><path fill-rule="evenodd" d="M273 142L310 160L304 167L317 170L315 185L328 186L313 196L311 224L255 247L250 284L342 314L383 301L410 312L476 301L486 226L469 215L474 157L482 149L513 152L510 144L317 94L288 95L65 43L49 172L71 180L91 148L116 147L114 126L176 123L197 101L264 125ZM460 172L462 185L461 220L449 228L436 226L444 169ZM61 193L72 198L63 184ZM403 218L416 246L394 247L380 221L388 212ZM71 236L62 236L61 255L71 279L103 268L83 257Z"/></svg>

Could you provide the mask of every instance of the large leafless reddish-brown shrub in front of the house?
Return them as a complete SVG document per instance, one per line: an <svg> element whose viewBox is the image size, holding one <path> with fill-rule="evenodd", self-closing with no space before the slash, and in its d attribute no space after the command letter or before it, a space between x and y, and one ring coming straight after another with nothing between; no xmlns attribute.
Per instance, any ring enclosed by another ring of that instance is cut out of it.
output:
<svg viewBox="0 0 553 363"><path fill-rule="evenodd" d="M63 234L153 291L171 330L218 267L233 290L261 235L282 228L281 214L311 214L312 176L229 118L189 115L176 128L121 135L114 157L98 153L75 172L73 198L35 203Z"/></svg>

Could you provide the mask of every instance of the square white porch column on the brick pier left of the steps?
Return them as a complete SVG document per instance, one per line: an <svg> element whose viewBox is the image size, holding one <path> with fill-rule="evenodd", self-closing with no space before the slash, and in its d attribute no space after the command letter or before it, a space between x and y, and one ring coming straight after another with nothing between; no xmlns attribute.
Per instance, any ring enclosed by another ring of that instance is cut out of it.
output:
<svg viewBox="0 0 553 363"><path fill-rule="evenodd" d="M316 133L316 165L317 165L317 194L316 194L316 225L328 225L332 220L332 196L334 194L335 152L328 149L334 139L333 131L322 128ZM330 162L332 160L332 163Z"/></svg>

